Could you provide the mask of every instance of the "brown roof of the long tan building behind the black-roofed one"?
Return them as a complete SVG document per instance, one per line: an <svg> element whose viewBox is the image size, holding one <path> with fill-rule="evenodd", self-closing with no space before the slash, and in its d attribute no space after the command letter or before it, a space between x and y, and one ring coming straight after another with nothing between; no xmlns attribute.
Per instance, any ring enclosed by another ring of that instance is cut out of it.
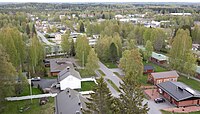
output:
<svg viewBox="0 0 200 114"><path fill-rule="evenodd" d="M179 77L176 71L167 71L167 72L156 72L156 73L151 73L151 75L156 78L168 78L171 76Z"/></svg>

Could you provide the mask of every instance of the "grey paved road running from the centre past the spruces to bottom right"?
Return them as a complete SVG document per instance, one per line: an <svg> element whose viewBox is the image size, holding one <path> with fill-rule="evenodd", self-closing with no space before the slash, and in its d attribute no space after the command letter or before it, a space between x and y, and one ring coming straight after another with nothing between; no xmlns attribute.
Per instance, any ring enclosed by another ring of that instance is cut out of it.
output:
<svg viewBox="0 0 200 114"><path fill-rule="evenodd" d="M104 76L105 81L106 79L110 79L113 81L113 83L115 83L117 87L120 87L120 83L122 83L122 80L113 73L114 71L117 70L111 70L101 62L99 62L99 66L100 66L99 69L102 70L105 74ZM117 92L107 81L106 83L108 84L108 88L110 89L112 95L114 97L119 97L119 92ZM148 114L162 114L160 109L172 107L172 105L169 102L156 104L153 100L144 99L143 103L146 102L148 102L148 107L150 108Z"/></svg>

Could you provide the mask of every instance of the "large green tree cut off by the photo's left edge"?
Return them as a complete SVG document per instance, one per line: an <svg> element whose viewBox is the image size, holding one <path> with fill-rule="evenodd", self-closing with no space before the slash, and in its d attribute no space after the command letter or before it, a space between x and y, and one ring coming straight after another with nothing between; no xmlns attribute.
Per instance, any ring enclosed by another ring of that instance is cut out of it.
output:
<svg viewBox="0 0 200 114"><path fill-rule="evenodd" d="M0 45L0 112L2 112L5 97L14 95L14 84L17 73L15 67L9 62L9 57Z"/></svg>

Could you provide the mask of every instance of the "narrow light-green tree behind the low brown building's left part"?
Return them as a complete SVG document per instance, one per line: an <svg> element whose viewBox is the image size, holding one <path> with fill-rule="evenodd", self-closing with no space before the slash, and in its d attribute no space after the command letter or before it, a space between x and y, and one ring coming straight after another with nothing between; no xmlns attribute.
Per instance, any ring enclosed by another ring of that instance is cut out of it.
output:
<svg viewBox="0 0 200 114"><path fill-rule="evenodd" d="M69 34L65 34L62 36L61 47L66 54L69 54L70 52Z"/></svg>

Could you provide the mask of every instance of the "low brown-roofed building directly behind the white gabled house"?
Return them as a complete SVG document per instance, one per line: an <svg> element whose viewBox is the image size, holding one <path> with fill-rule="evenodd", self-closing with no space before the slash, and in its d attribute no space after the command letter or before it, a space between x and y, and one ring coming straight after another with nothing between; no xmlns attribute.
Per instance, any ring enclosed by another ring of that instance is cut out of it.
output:
<svg viewBox="0 0 200 114"><path fill-rule="evenodd" d="M52 76L57 76L58 73L64 70L66 67L74 68L73 64L67 61L67 58L49 59L50 61L50 73Z"/></svg>

